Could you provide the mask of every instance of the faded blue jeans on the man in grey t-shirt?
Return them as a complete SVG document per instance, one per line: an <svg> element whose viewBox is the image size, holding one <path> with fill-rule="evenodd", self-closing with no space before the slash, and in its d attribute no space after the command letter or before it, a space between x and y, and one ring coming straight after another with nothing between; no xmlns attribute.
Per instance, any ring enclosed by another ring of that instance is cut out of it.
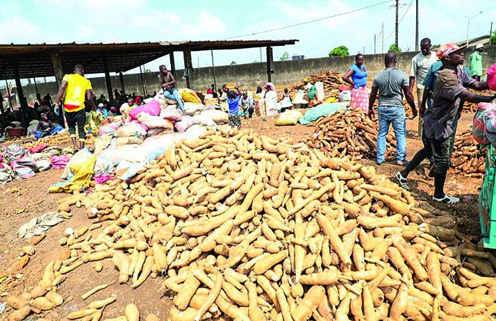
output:
<svg viewBox="0 0 496 321"><path fill-rule="evenodd" d="M404 161L406 158L406 115L403 106L379 107L377 111L379 118L379 135L377 137L377 163L385 161L386 137L388 136L389 124L396 135L396 160Z"/></svg>

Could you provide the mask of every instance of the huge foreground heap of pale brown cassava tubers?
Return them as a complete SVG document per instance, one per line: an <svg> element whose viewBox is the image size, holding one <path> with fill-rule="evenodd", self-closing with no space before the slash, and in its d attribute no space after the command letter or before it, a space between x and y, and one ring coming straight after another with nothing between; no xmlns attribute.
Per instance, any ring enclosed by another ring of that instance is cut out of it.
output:
<svg viewBox="0 0 496 321"><path fill-rule="evenodd" d="M112 260L132 288L165 277L171 321L496 312L496 259L456 231L455 217L416 204L374 167L284 138L210 130L59 210L72 206L94 222L60 239L72 252L61 268Z"/></svg>

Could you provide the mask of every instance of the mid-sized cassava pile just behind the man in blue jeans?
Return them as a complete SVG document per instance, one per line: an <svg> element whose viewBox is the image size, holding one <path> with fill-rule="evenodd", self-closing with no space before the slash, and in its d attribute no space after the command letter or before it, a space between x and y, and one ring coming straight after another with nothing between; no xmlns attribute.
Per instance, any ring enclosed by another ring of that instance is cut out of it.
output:
<svg viewBox="0 0 496 321"><path fill-rule="evenodd" d="M315 133L308 138L308 146L320 149L326 156L353 160L377 156L379 125L361 110L339 110L331 116L320 118ZM387 136L388 154L395 153L396 138L390 129Z"/></svg>

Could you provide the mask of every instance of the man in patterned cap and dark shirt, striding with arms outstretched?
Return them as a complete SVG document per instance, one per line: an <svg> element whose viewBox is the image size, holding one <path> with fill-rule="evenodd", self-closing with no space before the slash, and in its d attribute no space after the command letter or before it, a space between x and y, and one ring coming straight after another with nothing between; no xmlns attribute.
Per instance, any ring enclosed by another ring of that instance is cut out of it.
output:
<svg viewBox="0 0 496 321"><path fill-rule="evenodd" d="M454 124L456 124L457 114L463 106L461 101L477 104L490 102L496 98L496 95L482 96L465 89L465 87L476 90L488 88L487 82L471 79L467 72L459 67L464 61L462 49L465 47L458 47L456 44L449 43L443 44L436 51L443 67L438 70L432 105L424 115L424 131L427 142L424 142L424 148L415 154L405 169L396 174L400 185L408 188L406 185L408 174L415 170L415 167L425 158L433 156L434 165L429 174L429 176L434 177L433 200L445 204L455 204L460 201L458 197L446 195L444 185L449 167L449 146L454 136L453 133L456 131Z"/></svg>

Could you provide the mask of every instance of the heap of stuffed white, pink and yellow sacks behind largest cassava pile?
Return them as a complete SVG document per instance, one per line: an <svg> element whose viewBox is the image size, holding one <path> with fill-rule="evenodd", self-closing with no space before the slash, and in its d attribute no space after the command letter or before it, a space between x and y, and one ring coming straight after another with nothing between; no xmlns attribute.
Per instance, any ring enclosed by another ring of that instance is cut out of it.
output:
<svg viewBox="0 0 496 321"><path fill-rule="evenodd" d="M81 167L80 172L85 172L84 179L74 181L74 175L66 175L62 183L49 191L70 192L74 188L87 188L91 183L88 174L93 175L93 179L102 175L108 179L110 174L123 180L130 179L165 153L176 140L197 138L206 131L206 126L228 122L227 113L205 110L195 92L182 90L181 94L185 99L185 114L176 108L176 104L171 104L175 101L161 99L159 93L152 99L145 99L142 106L129 108L123 117L115 117L115 122L101 126L99 137L94 142L94 163L73 162L70 168L77 172ZM88 154L82 156L85 158Z"/></svg>

